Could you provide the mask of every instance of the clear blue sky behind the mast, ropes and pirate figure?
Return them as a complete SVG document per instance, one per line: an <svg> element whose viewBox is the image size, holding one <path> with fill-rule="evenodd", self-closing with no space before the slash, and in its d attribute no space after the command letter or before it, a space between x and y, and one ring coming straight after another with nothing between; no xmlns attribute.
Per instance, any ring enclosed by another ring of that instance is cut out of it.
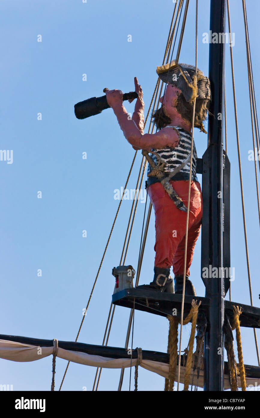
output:
<svg viewBox="0 0 260 418"><path fill-rule="evenodd" d="M0 1L1 104L0 148L13 150L13 163L1 171L1 334L75 341L82 311L91 292L123 187L134 156L111 109L77 120L74 104L102 96L103 88L134 90L137 76L146 112L162 64L174 3L172 0L8 0ZM247 237L255 306L260 306L259 220L255 166L248 160L252 133L247 82L242 1L230 0L242 176ZM247 15L259 104L259 28L257 0L247 1ZM208 75L210 1L199 0L198 67ZM228 32L228 29L227 29ZM37 41L38 35L42 42ZM128 35L132 41L128 42ZM242 223L229 47L226 48L228 156L231 162L232 300L250 304ZM195 62L195 1L190 1L180 62ZM87 81L82 75L87 74ZM134 103L126 103L133 112ZM42 120L37 119L38 113ZM148 124L146 128L148 127ZM207 129L207 128L206 128ZM207 135L196 130L197 154ZM82 159L82 153L87 159ZM129 179L134 189L141 163L139 151ZM259 171L258 171L259 174ZM201 175L199 175L201 181ZM38 199L38 191L42 198ZM114 291L111 269L119 265L132 201L125 200L111 237L79 342L101 344ZM144 203L138 204L126 265L137 267ZM87 237L82 237L82 231ZM140 284L149 283L154 265L154 214L151 215ZM200 278L199 238L191 267L197 294ZM38 277L38 269L42 276ZM116 307L109 345L124 347L130 310ZM133 347L167 351L167 319L135 312ZM191 325L183 330L183 349ZM258 342L260 332L257 330ZM257 365L252 329L242 328L246 364ZM237 350L235 349L236 353ZM52 358L30 363L0 360L1 384L14 390L50 390ZM56 390L67 362L56 360ZM139 390L163 390L164 379L139 368ZM71 363L63 390L92 390L96 368ZM103 369L99 390L117 390L120 370ZM132 375L133 376L133 375ZM129 369L123 390L129 389ZM134 381L131 389L134 390Z"/></svg>

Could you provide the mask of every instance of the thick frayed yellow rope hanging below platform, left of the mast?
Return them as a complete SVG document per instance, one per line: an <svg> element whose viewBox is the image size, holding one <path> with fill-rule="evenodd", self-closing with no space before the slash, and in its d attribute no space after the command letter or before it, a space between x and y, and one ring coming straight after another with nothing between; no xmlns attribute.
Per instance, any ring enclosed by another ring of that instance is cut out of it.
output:
<svg viewBox="0 0 260 418"><path fill-rule="evenodd" d="M183 319L182 324L187 325L192 319L192 331L191 336L189 339L189 351L187 357L187 363L189 364L188 368L186 365L186 373L185 373L185 380L184 382L189 382L189 375L190 370L192 367L192 351L193 351L193 344L194 344L194 337L195 337L195 330L196 330L196 323L197 323L197 316L198 316L198 309L201 301L197 305L197 301L192 301L192 308L189 311L189 314ZM175 374L176 374L176 367L177 367L177 360L178 360L178 325L180 320L176 316L167 316L169 320L169 335L168 335L168 349L167 353L169 354L169 376L165 379L164 391L173 391L174 381L175 381ZM189 362L189 363L188 363ZM189 387L189 384L188 384ZM187 390L187 389L184 389Z"/></svg>

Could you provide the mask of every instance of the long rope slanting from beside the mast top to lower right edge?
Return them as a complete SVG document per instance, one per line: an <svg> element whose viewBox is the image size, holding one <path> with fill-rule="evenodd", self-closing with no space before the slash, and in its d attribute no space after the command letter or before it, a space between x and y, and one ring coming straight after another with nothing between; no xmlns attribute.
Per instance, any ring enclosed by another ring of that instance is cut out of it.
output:
<svg viewBox="0 0 260 418"><path fill-rule="evenodd" d="M244 2L245 0L242 0L242 1ZM231 60L233 99L234 99L234 110L235 110L236 135L237 135L237 154L238 154L238 163L239 163L240 190L241 190L242 213L243 213L244 235L245 235L245 250L246 250L246 258L247 258L247 274L248 274L248 284L249 284L249 292L250 292L250 302L251 302L251 306L253 306L252 286L251 286L251 277L250 277L250 265L249 265L248 246L247 246L247 230L246 230L246 223L245 223L245 204L244 204L244 192L243 192L243 183L242 183L240 143L239 143L239 135L238 135L237 102L236 102L236 93L235 93L235 75L234 75L233 52L232 52L232 43L231 43L231 25L230 25L229 0L227 0L227 19L228 19L228 28L229 28L229 38L230 38L229 39L229 41L230 41L230 60ZM254 328L254 337L255 337L255 348L256 348L256 353L257 353L257 361L258 361L258 365L260 366L260 357L259 357L257 336L256 336L255 328Z"/></svg>

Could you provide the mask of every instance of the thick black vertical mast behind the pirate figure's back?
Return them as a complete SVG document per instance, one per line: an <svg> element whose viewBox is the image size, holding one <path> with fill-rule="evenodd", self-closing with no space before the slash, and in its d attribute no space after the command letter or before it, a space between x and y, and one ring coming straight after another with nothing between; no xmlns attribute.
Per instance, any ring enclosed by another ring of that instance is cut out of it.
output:
<svg viewBox="0 0 260 418"><path fill-rule="evenodd" d="M223 154L222 143L222 98L224 93L225 74L225 10L226 0L211 0L210 2L210 54L209 78L212 91L208 126L208 148L202 159L202 190L203 190L203 219L202 219L202 269L209 273L204 278L206 297L210 298L209 322L204 339L204 390L224 390L224 298L225 287L222 274L217 278L210 277L213 268L222 272L223 266L230 263L229 230L223 234L224 213L226 203L229 212L229 192L224 196L223 184L229 173L229 161ZM212 43L212 34L217 34L217 43ZM225 152L224 152L225 153ZM224 173L224 159L227 162L227 172ZM227 255L224 256L224 247ZM221 268L221 269L220 269ZM203 277L203 276L202 276ZM225 280L226 281L226 280Z"/></svg>

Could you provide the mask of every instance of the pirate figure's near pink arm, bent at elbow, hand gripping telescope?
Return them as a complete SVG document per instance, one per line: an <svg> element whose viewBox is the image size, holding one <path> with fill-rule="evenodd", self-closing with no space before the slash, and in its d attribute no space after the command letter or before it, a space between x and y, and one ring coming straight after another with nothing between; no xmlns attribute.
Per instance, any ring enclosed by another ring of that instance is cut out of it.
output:
<svg viewBox="0 0 260 418"><path fill-rule="evenodd" d="M142 135L134 120L129 120L129 115L123 105L123 93L121 90L106 90L109 106L114 110L121 130L125 138L136 150L151 150L151 148L176 147L179 135L176 130L164 128L157 133Z"/></svg>

